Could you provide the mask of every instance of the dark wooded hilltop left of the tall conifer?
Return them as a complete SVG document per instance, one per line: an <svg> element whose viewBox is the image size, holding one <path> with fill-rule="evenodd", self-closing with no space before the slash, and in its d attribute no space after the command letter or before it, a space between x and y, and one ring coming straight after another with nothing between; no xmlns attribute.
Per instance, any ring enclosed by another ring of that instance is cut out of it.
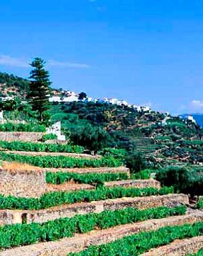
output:
<svg viewBox="0 0 203 256"><path fill-rule="evenodd" d="M29 89L28 79L0 72L0 97L26 97Z"/></svg>

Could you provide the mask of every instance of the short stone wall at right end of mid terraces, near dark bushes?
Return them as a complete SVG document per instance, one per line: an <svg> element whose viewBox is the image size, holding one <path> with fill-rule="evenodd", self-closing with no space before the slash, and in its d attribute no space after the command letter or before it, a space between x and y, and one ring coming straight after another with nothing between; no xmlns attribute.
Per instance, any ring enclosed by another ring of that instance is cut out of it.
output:
<svg viewBox="0 0 203 256"><path fill-rule="evenodd" d="M154 179L148 180L116 180L104 183L106 188L114 187L134 187L134 188L158 188L160 189L160 182Z"/></svg>

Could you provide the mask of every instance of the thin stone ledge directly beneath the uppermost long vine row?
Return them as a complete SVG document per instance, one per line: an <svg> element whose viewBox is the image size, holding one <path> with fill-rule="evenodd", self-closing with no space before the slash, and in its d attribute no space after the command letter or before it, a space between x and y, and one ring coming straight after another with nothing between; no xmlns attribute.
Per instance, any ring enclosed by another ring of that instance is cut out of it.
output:
<svg viewBox="0 0 203 256"><path fill-rule="evenodd" d="M66 157L75 157L75 158L91 158L98 159L101 156L92 156L88 154L77 154L77 153L53 153L53 152L32 152L32 151L15 151L15 150L4 150L4 153L8 154L18 154L21 156L66 156Z"/></svg>

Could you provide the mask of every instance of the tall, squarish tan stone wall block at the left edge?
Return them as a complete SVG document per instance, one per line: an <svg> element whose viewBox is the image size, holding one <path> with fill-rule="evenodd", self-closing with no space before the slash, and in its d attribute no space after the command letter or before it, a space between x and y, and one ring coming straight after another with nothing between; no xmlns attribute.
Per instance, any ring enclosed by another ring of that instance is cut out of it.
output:
<svg viewBox="0 0 203 256"><path fill-rule="evenodd" d="M43 170L0 169L0 194L5 196L37 198L46 191Z"/></svg>

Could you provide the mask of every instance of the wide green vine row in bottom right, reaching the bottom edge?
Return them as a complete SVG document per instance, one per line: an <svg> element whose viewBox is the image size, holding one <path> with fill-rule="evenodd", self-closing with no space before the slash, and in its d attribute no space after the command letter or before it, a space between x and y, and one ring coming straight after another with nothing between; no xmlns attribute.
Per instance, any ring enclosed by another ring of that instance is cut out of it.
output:
<svg viewBox="0 0 203 256"><path fill-rule="evenodd" d="M137 256L150 249L170 244L175 239L191 238L203 235L203 223L185 224L183 226L164 227L155 231L127 236L115 242L90 246L79 253L68 256Z"/></svg>

